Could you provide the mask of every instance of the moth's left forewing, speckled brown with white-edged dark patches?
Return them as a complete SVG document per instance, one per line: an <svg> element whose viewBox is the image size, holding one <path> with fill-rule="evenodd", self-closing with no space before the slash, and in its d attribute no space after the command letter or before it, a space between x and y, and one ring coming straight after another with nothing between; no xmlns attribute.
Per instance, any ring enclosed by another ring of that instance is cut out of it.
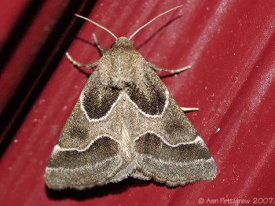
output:
<svg viewBox="0 0 275 206"><path fill-rule="evenodd" d="M110 115L118 105L119 92L103 89L99 81L94 71L54 147L45 171L51 189L102 185L120 170L120 143L115 135L122 126L116 121L118 114Z"/></svg>

